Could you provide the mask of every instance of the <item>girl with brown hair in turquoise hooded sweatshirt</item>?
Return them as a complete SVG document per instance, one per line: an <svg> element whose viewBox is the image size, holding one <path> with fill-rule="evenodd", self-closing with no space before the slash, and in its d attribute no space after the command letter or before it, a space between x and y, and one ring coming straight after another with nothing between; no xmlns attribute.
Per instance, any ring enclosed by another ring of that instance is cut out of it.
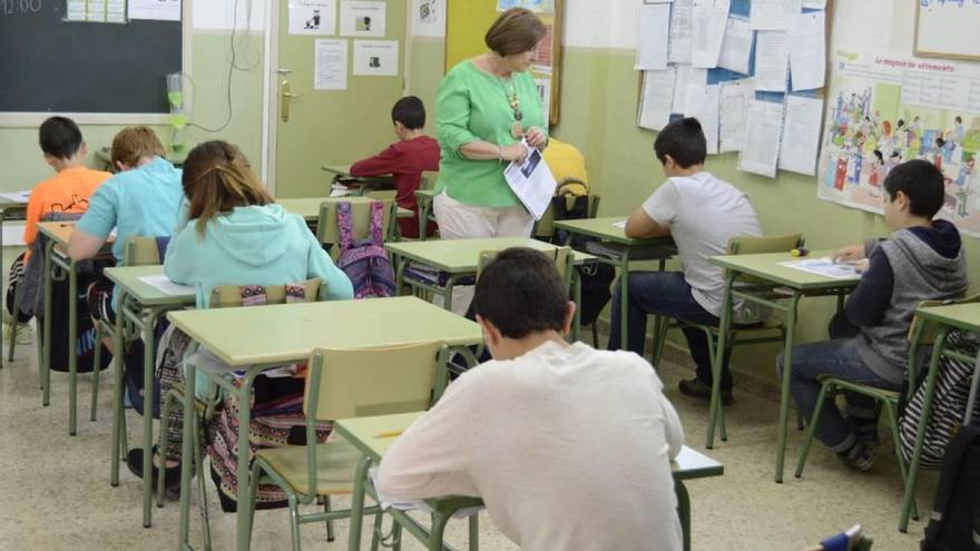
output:
<svg viewBox="0 0 980 551"><path fill-rule="evenodd" d="M197 288L197 307L208 307L208 298L216 285L284 285L313 277L322 281L322 297L353 298L351 281L333 264L305 220L275 204L236 146L207 141L192 149L184 163L183 189L187 196L189 222L170 240L164 273L174 282ZM186 346L186 336L176 338L183 340ZM158 363L157 377L161 393L184 381L183 354L174 352L178 347L174 340L171 336L173 346L160 350L163 361ZM290 383L294 383L292 386L302 396L302 381L290 380ZM259 386L257 383L256 388ZM282 399L272 393L282 388L290 392L290 386L284 384L270 393L256 391L253 409L261 410L263 401ZM292 410L285 407L280 412L298 412L302 399L294 405ZM170 486L179 483L182 413L175 409L169 417L167 449L164 451L167 457L165 481ZM300 416L296 424L302 423ZM232 431L232 434L237 433ZM226 449L236 450L234 442ZM227 460L213 459L223 465ZM159 457L155 463L156 473ZM141 476L143 451L131 450L128 464L137 476ZM223 503L226 499L233 500L234 486L225 484L220 494Z"/></svg>

